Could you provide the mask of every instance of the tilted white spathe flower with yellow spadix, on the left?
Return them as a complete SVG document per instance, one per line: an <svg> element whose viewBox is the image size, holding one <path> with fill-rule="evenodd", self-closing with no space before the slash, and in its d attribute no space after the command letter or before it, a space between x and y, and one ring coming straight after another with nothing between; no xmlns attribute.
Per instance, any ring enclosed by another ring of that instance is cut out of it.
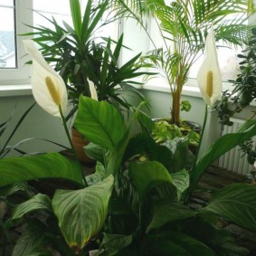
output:
<svg viewBox="0 0 256 256"><path fill-rule="evenodd" d="M62 77L48 65L33 40L24 40L24 48L33 60L33 97L52 116L61 117L68 104L68 95Z"/></svg>

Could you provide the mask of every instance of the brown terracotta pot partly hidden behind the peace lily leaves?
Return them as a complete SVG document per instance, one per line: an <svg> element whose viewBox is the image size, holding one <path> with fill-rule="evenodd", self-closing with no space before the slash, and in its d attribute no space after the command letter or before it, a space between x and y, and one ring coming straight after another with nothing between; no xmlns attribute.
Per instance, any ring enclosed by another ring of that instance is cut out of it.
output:
<svg viewBox="0 0 256 256"><path fill-rule="evenodd" d="M83 137L81 133L75 128L71 129L71 135L72 135L73 146L77 152L77 156L81 161L81 163L90 163L90 164L94 163L95 160L91 159L89 156L86 156L83 150L83 147L88 145L90 141L88 141L85 137Z"/></svg>

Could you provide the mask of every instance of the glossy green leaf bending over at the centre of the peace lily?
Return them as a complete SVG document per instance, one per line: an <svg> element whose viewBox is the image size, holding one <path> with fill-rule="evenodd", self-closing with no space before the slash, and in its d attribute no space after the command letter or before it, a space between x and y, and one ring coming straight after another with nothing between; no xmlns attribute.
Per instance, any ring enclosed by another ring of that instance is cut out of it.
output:
<svg viewBox="0 0 256 256"><path fill-rule="evenodd" d="M173 184L166 167L156 161L132 162L128 167L128 172L140 197L144 197L147 191L156 185Z"/></svg>

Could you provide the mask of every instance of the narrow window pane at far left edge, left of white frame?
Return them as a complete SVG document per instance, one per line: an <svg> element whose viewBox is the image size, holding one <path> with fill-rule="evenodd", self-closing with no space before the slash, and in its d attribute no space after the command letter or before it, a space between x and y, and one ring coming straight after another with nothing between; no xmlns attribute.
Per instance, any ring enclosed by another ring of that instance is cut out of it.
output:
<svg viewBox="0 0 256 256"><path fill-rule="evenodd" d="M5 2L7 3L7 1ZM8 1L8 2L13 2L13 1ZM16 67L14 34L15 34L14 8L0 7L0 68L1 69Z"/></svg>

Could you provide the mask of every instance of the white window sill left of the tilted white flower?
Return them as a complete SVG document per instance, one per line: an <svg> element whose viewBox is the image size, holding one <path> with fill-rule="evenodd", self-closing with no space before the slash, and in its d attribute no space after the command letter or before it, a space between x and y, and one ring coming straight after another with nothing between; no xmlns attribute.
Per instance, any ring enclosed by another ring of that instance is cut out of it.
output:
<svg viewBox="0 0 256 256"><path fill-rule="evenodd" d="M31 85L0 85L0 97L32 95Z"/></svg>

